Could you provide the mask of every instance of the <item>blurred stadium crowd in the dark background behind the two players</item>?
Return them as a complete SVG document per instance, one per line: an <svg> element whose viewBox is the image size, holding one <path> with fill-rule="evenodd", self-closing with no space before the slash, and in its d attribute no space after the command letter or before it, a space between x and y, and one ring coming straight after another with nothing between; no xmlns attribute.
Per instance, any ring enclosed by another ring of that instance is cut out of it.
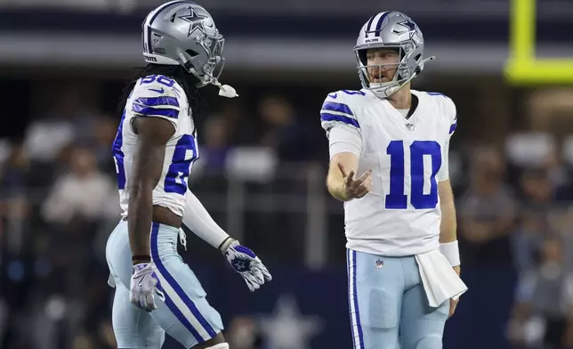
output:
<svg viewBox="0 0 573 349"><path fill-rule="evenodd" d="M114 348L104 253L119 215L110 144L131 67L97 77L85 68L54 72L32 64L30 72L3 64L0 348ZM335 317L311 312L311 304L296 309L295 302L308 303L304 295L317 296L309 290L293 290L293 299L270 286L235 301L218 287L217 273L228 272L222 257L188 232L182 256L214 294L209 299L221 310L234 349L332 347L312 341L319 331L319 338L336 332L351 343L343 210L324 188L328 150L319 107L331 91L358 88L353 69L350 61L342 74L257 74L231 65L223 77L241 97L222 100L214 90L205 92L210 108L196 120L200 158L191 191L217 223L277 271L273 282L281 285L284 272L295 280L291 288L297 280L303 288L307 279L297 279L299 273L311 272L308 280L334 273L335 281L324 284L334 290L315 293L328 300L334 293L332 299L341 301L328 305L340 308ZM446 93L458 108L450 170L470 289L448 323L445 347L481 348L496 337L491 349L572 348L573 91L512 88L499 72L481 77L479 70L461 80L458 72L442 68L415 84ZM277 304L273 319L308 312L322 321L285 321L270 329L270 322L235 304L248 307L254 300L265 304L257 313L269 314ZM333 331L329 321L340 322L340 329Z"/></svg>

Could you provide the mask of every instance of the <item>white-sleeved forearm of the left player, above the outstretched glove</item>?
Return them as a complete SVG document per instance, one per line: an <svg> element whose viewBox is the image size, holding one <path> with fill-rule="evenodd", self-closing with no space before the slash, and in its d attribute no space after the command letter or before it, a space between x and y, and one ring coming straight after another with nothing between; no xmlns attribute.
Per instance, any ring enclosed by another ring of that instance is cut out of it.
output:
<svg viewBox="0 0 573 349"><path fill-rule="evenodd" d="M185 199L185 215L183 215L182 223L214 248L220 248L222 242L229 238L229 234L214 222L206 208L189 189Z"/></svg>

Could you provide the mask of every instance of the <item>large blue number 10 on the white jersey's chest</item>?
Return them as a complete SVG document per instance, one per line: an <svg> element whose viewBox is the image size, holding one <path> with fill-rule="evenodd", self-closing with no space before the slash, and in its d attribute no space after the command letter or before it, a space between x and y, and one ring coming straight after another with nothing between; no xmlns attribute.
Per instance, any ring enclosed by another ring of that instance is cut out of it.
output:
<svg viewBox="0 0 573 349"><path fill-rule="evenodd" d="M386 195L385 207L389 209L408 208L408 195L404 193L404 141L392 141L386 149L390 156L390 193ZM430 157L432 173L430 192L424 194L424 156ZM416 209L435 208L438 205L438 183L436 174L441 166L440 143L435 141L415 141L410 144L410 203Z"/></svg>

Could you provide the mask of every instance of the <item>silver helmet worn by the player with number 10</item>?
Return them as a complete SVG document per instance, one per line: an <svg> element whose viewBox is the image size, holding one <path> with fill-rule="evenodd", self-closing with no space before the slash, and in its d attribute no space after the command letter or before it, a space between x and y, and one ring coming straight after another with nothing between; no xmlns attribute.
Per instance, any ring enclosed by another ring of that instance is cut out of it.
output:
<svg viewBox="0 0 573 349"><path fill-rule="evenodd" d="M373 83L368 78L367 69L379 67L367 65L366 53L367 49L371 48L391 48L399 51L398 67L391 81ZM395 11L380 12L367 20L360 29L354 53L362 87L380 98L386 98L408 84L424 69L424 62L435 58L424 59L422 31L407 15Z"/></svg>

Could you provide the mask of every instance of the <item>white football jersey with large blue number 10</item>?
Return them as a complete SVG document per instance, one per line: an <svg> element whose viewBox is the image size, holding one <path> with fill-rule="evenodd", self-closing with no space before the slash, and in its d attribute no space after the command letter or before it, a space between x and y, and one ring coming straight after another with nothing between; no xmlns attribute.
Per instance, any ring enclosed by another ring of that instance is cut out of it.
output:
<svg viewBox="0 0 573 349"><path fill-rule="evenodd" d="M347 248L382 256L440 248L438 183L448 179L456 106L441 93L412 93L418 105L408 120L368 90L329 93L322 105L331 158L351 151L357 177L372 169L372 190L344 203Z"/></svg>

